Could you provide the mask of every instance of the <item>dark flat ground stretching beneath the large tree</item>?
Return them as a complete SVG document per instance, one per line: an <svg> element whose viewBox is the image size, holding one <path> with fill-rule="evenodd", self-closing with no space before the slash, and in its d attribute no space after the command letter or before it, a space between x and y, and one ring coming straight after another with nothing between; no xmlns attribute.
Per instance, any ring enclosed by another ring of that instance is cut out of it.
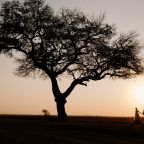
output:
<svg viewBox="0 0 144 144"><path fill-rule="evenodd" d="M0 116L0 144L144 144L144 126L132 118Z"/></svg>

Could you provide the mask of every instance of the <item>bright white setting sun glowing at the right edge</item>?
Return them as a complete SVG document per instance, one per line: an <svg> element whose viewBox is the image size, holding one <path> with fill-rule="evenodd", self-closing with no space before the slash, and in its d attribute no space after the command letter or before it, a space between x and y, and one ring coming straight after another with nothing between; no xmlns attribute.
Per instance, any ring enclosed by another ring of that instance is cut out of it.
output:
<svg viewBox="0 0 144 144"><path fill-rule="evenodd" d="M144 86L138 86L134 89L134 97L139 104L144 105Z"/></svg>

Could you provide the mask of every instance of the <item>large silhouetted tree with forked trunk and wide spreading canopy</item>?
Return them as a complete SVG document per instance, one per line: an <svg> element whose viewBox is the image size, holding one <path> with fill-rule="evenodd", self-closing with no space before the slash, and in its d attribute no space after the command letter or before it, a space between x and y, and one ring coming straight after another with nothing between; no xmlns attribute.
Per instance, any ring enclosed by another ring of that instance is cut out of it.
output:
<svg viewBox="0 0 144 144"><path fill-rule="evenodd" d="M104 16L69 9L55 14L44 0L4 2L0 37L0 52L16 59L18 76L51 80L60 121L67 119L66 98L77 85L106 77L127 79L143 70L135 33L118 35ZM64 92L60 76L71 79Z"/></svg>

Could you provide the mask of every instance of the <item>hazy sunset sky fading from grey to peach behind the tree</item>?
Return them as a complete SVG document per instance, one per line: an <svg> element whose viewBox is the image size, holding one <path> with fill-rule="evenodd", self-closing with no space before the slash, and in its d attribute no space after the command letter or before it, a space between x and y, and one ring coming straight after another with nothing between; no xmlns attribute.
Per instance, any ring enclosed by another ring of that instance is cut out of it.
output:
<svg viewBox="0 0 144 144"><path fill-rule="evenodd" d="M4 1L4 0L3 0ZM137 31L144 40L144 0L47 0L54 9L77 8L88 15L106 14L119 32ZM56 114L50 80L16 77L14 60L0 55L0 114ZM62 88L68 81L61 80ZM77 86L67 98L69 115L133 116L144 107L144 76L131 80L104 79Z"/></svg>

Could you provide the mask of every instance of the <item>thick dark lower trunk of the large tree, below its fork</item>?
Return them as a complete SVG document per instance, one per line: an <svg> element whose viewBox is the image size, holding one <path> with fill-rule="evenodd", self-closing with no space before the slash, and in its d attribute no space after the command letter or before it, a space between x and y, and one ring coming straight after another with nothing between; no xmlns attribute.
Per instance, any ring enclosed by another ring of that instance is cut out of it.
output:
<svg viewBox="0 0 144 144"><path fill-rule="evenodd" d="M56 101L56 105L57 105L57 113L58 113L58 121L60 122L65 122L67 121L67 114L65 111L65 103L66 101L62 99L59 99Z"/></svg>

